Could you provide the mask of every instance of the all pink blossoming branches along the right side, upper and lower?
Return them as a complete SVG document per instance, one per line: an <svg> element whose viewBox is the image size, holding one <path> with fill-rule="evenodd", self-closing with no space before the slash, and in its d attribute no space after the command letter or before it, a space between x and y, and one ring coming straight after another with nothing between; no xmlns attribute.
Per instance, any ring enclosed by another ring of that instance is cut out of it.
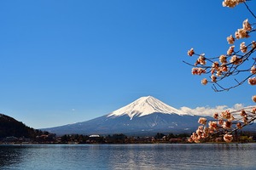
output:
<svg viewBox="0 0 256 170"><path fill-rule="evenodd" d="M222 4L224 7L234 8L240 3L244 3L248 11L253 15L253 18L256 19L256 15L253 14L252 10L247 6L247 0L224 0ZM217 57L207 58L206 54L196 54L194 48L189 49L188 55L190 57L197 56L194 68L192 68L192 74L209 74L210 79L203 78L201 84L207 85L207 83L212 82L214 83L212 87L217 92L236 88L246 81L250 85L256 85L256 77L253 77L256 75L256 58L251 57L251 55L256 52L256 42L240 42L237 47L235 46L235 43L239 43L241 39L248 38L251 36L251 33L256 32L253 25L255 26L256 23L251 24L248 19L243 20L242 27L237 29L235 34L231 34L226 38L230 47L226 52ZM246 62L250 59L253 60L253 65L247 65ZM229 88L224 88L219 84L219 82L225 78L230 76L236 77L241 72L248 73L249 76L244 77L244 79L240 81L235 78L236 84ZM256 95L253 95L252 100L256 102ZM214 113L213 120L211 121L207 121L207 118L201 117L198 120L200 126L195 133L192 133L189 142L200 143L211 139L213 135L217 134L222 135L223 140L229 143L233 140L232 133L234 131L247 126L254 120L256 120L256 107L244 108L240 111Z"/></svg>

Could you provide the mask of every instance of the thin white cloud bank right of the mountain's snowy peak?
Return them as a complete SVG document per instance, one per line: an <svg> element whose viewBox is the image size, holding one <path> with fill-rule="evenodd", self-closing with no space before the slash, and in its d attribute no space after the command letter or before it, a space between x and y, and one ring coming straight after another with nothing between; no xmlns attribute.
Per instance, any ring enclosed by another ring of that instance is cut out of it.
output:
<svg viewBox="0 0 256 170"><path fill-rule="evenodd" d="M230 110L230 111L236 111L236 110L241 110L244 108L244 105L242 104L236 104L232 107L228 107L227 105L218 105L215 107L196 107L195 109L191 109L189 107L183 106L180 108L181 111L192 114L192 115L198 115L198 116L212 116L214 113Z"/></svg>

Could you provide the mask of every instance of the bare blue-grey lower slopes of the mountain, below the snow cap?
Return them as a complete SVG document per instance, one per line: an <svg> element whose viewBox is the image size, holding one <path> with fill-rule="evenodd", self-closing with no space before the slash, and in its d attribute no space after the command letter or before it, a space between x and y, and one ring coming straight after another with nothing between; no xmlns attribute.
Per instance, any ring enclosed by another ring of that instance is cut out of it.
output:
<svg viewBox="0 0 256 170"><path fill-rule="evenodd" d="M200 116L178 116L154 113L147 116L108 117L101 116L87 122L78 122L61 127L46 128L50 133L82 133L82 134L148 134L148 133L191 133L198 127Z"/></svg>

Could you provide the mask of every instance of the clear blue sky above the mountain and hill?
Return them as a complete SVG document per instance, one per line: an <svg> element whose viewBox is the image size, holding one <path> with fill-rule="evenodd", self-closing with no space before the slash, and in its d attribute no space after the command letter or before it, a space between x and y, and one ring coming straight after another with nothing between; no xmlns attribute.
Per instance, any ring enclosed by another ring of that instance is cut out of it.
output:
<svg viewBox="0 0 256 170"><path fill-rule="evenodd" d="M177 109L253 105L254 87L215 93L182 62L194 63L192 47L226 52L226 37L247 18L243 4L223 8L221 0L1 1L0 112L40 128L148 95Z"/></svg>

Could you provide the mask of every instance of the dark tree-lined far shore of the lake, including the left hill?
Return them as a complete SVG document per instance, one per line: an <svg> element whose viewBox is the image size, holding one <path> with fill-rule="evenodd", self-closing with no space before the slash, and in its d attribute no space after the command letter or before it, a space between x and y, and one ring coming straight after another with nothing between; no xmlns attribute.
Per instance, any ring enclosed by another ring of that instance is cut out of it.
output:
<svg viewBox="0 0 256 170"><path fill-rule="evenodd" d="M126 136L123 133L100 135L65 134L57 137L55 133L44 132L24 123L16 121L10 116L0 114L0 144L6 142L32 144L153 144L153 143L187 143L188 133L156 133L154 136L137 137ZM256 141L255 132L236 132L234 142ZM209 138L207 142L223 142L222 138Z"/></svg>

